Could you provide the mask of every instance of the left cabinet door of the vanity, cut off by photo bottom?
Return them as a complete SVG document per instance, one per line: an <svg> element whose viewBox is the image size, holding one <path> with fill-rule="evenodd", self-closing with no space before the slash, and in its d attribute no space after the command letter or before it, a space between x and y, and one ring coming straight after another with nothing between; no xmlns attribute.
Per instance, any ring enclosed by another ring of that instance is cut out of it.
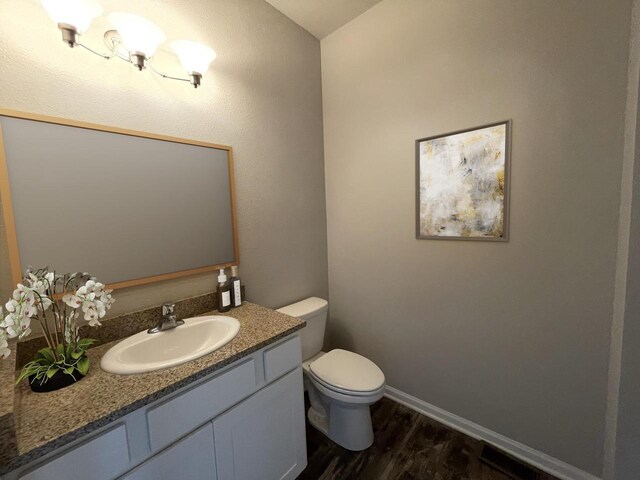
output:
<svg viewBox="0 0 640 480"><path fill-rule="evenodd" d="M216 480L211 422L127 473L121 480Z"/></svg>

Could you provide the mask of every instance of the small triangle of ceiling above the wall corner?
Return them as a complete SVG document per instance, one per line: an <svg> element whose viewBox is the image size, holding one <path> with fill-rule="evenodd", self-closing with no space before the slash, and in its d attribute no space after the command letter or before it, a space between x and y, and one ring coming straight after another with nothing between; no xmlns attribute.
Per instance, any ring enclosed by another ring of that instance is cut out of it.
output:
<svg viewBox="0 0 640 480"><path fill-rule="evenodd" d="M381 0L267 0L321 40Z"/></svg>

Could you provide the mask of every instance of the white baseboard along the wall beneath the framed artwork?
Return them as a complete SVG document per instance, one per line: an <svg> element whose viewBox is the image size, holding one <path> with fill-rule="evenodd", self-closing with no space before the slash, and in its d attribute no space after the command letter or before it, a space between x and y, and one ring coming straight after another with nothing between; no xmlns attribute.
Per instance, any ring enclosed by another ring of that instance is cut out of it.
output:
<svg viewBox="0 0 640 480"><path fill-rule="evenodd" d="M464 433L472 438L484 440L495 447L519 458L523 462L528 463L540 470L550 473L561 480L601 480L584 470L580 470L568 463L562 462L557 458L553 458L546 453L539 452L533 448L527 447L522 443L511 440L510 438L493 432L488 428L484 428L478 424L465 420L462 417L449 413L435 405L431 405L420 400L408 393L404 393L396 388L387 385L385 397L390 398L394 402L398 402L418 413L426 415L433 420Z"/></svg>

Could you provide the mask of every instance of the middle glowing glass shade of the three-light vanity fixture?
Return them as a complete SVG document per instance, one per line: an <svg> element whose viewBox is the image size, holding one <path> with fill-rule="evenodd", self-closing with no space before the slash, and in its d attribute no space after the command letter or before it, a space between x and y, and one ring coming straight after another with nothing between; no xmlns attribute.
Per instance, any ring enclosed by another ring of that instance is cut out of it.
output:
<svg viewBox="0 0 640 480"><path fill-rule="evenodd" d="M109 15L109 21L122 38L122 43L130 53L143 53L150 58L158 45L167 37L154 23L131 13L115 12Z"/></svg>

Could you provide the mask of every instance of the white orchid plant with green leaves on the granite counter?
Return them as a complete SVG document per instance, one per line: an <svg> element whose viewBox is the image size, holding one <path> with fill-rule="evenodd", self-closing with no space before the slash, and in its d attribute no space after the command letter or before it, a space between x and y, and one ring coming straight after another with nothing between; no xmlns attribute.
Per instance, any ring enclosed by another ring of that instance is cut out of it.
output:
<svg viewBox="0 0 640 480"><path fill-rule="evenodd" d="M94 340L80 338L80 313L89 325L99 326L114 301L111 290L88 273L58 275L48 268L27 270L5 304L6 312L0 307L0 357L11 353L7 340L21 340L31 333L32 320L39 322L47 347L24 366L17 383L30 377L32 383L43 384L58 372L74 380L77 373L86 375L86 350Z"/></svg>

